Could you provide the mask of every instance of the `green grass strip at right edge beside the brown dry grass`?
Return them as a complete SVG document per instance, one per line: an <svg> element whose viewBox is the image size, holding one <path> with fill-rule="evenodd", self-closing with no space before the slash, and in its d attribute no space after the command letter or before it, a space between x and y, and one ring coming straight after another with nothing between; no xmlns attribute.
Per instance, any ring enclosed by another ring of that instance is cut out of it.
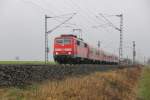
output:
<svg viewBox="0 0 150 100"><path fill-rule="evenodd" d="M139 97L141 100L150 100L150 67L144 68L142 73Z"/></svg>

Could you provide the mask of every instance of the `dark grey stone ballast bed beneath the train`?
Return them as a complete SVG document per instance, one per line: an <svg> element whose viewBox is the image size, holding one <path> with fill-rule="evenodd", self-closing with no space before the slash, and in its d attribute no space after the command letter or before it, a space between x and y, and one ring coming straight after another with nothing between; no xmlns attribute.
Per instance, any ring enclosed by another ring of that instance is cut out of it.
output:
<svg viewBox="0 0 150 100"><path fill-rule="evenodd" d="M62 80L95 71L109 71L131 66L118 65L0 65L0 86L22 86L45 80Z"/></svg>

